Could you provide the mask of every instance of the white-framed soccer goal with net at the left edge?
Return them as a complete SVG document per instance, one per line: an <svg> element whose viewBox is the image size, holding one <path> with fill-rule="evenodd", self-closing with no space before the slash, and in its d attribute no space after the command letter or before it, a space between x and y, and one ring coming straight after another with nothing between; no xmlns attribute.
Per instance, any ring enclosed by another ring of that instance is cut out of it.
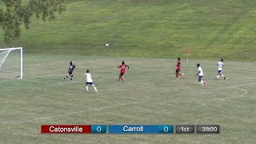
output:
<svg viewBox="0 0 256 144"><path fill-rule="evenodd" d="M22 47L0 49L0 78L23 78Z"/></svg>

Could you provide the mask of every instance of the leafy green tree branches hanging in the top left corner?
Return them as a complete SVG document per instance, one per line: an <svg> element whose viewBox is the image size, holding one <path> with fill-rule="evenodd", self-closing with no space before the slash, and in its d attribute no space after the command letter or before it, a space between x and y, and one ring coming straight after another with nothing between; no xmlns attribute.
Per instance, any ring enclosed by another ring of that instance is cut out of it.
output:
<svg viewBox="0 0 256 144"><path fill-rule="evenodd" d="M1 1L1 0L0 0ZM12 46L21 36L21 26L30 28L31 18L42 18L43 21L55 20L56 13L62 14L66 10L64 0L29 0L23 6L22 0L2 0L6 7L0 9L0 26L4 34L4 42Z"/></svg>

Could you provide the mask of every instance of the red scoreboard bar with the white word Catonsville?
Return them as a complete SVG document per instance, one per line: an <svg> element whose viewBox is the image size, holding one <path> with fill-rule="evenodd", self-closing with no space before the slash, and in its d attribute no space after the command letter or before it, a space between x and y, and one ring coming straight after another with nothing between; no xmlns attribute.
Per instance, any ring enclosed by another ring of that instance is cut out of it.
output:
<svg viewBox="0 0 256 144"><path fill-rule="evenodd" d="M90 125L42 125L42 134L85 134L91 133Z"/></svg>

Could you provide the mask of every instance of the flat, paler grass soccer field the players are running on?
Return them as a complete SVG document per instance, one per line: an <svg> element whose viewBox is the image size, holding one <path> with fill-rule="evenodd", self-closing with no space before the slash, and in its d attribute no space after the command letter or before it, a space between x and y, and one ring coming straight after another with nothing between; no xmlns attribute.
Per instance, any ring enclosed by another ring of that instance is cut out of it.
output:
<svg viewBox="0 0 256 144"><path fill-rule="evenodd" d="M0 143L254 143L256 63L225 61L226 80L214 80L216 61L24 55L24 79L0 79ZM62 81L70 60L74 80ZM118 65L130 66L118 82ZM198 82L196 64L206 86ZM92 87L86 92L84 73ZM41 134L42 124L218 124L220 134Z"/></svg>

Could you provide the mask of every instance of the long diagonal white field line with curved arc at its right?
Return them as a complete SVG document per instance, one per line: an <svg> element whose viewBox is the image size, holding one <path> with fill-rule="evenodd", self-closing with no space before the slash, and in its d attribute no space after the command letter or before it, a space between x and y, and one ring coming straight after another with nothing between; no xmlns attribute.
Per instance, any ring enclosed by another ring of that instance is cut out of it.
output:
<svg viewBox="0 0 256 144"><path fill-rule="evenodd" d="M243 90L241 88L238 88L238 86L249 86L252 84L256 84L256 82L252 82L252 83L244 83L244 84L239 84L236 86L225 86L225 87L221 87L221 88L216 88L216 89L211 89L211 90L222 90L222 89L228 89L228 88L236 88L236 89L240 89L242 91L244 91L244 94L239 95L239 97L242 97L244 95L247 94L246 90ZM205 90L205 91L210 91L210 90ZM34 118L34 119L30 119L30 120L26 120L26 121L22 121L22 122L10 122L13 124L22 124L25 122L34 122L34 121L38 121L38 120L44 120L44 119L48 119L48 118L56 118L56 117L62 117L62 116L66 116L66 115L70 115L70 114L79 114L79 113L84 113L84 112L88 112L88 111L94 111L94 110L105 110L105 109L110 109L112 107L118 107L118 106L127 106L127 105L132 105L132 104L138 104L138 103L146 103L148 101L152 101L152 100L156 100L156 99L161 99L161 98L170 98L170 97L174 97L174 96L179 96L179 95L186 95L186 94L194 94L194 93L198 93L198 91L194 91L194 92L188 92L188 93L183 93L183 94L175 94L175 95L171 95L171 96L166 96L166 97L159 97L159 98L149 98L149 99L144 99L141 101L137 101L137 102L128 102L128 103L122 103L122 104L118 104L118 105L112 105L112 106L103 106L101 108L93 108L93 109L89 109L89 110L78 110L78 111L74 111L74 112L70 112L70 113L66 113L66 114L57 114L57 115L51 115L51 116L47 116L47 117L42 117L42 118ZM234 98L234 97L232 97ZM238 97L235 97L238 98ZM218 99L223 99L223 98L218 98ZM227 99L227 98L226 98ZM192 102L192 101L191 101ZM194 102L194 101L193 101Z"/></svg>

